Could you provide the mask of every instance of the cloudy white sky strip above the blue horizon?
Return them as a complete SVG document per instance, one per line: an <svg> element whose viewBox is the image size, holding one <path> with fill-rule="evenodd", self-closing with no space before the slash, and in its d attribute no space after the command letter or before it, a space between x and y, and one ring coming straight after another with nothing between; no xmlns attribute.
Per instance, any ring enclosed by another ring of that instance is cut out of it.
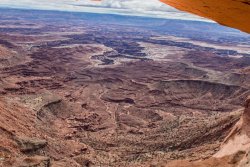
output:
<svg viewBox="0 0 250 167"><path fill-rule="evenodd" d="M201 17L178 11L161 3L159 0L0 0L0 7L208 21Z"/></svg>

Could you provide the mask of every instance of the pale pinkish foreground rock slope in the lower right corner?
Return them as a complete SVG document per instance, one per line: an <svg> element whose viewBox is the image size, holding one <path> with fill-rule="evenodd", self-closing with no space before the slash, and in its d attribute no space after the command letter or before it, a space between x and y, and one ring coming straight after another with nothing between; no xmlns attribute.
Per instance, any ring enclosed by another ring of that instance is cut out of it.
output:
<svg viewBox="0 0 250 167"><path fill-rule="evenodd" d="M248 167L250 163L250 97L240 121L226 137L220 150L211 158L200 161L177 160L163 162L164 167Z"/></svg>

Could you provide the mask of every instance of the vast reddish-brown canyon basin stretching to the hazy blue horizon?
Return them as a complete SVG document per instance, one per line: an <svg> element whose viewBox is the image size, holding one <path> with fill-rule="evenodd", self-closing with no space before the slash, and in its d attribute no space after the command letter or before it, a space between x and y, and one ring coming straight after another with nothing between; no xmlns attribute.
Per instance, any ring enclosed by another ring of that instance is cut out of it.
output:
<svg viewBox="0 0 250 167"><path fill-rule="evenodd" d="M1 9L0 165L206 159L249 83L250 36L214 23Z"/></svg>

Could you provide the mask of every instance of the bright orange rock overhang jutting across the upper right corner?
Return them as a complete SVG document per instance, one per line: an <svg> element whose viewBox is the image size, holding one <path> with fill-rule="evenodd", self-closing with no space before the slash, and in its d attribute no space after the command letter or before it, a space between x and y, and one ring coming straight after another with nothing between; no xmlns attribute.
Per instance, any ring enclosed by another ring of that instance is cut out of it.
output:
<svg viewBox="0 0 250 167"><path fill-rule="evenodd" d="M161 0L179 10L250 33L250 0Z"/></svg>

